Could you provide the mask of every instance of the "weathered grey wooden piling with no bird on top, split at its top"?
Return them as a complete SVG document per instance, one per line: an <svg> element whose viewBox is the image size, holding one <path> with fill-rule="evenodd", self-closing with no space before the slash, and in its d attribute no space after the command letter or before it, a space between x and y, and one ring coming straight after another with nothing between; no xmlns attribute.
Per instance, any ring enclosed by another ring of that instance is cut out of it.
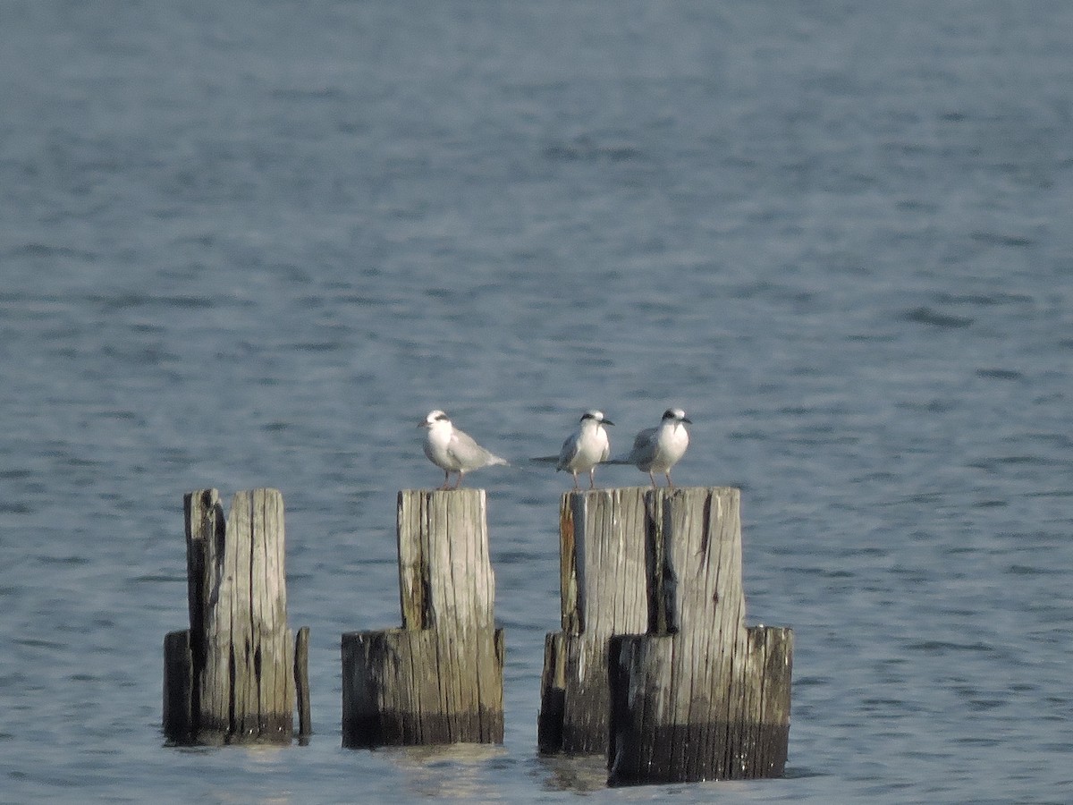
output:
<svg viewBox="0 0 1073 805"><path fill-rule="evenodd" d="M286 626L283 496L185 496L190 629L164 639L163 726L175 744L290 742L309 732L309 629Z"/></svg>

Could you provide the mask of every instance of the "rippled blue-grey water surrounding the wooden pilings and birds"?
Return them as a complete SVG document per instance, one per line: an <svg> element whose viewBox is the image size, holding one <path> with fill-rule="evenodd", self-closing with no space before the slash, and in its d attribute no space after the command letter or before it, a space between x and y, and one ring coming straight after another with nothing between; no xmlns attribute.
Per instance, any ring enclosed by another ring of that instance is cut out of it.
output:
<svg viewBox="0 0 1073 805"><path fill-rule="evenodd" d="M0 800L1073 800L1071 88L1062 2L0 4ZM795 629L787 777L536 757L525 466L471 478L505 745L342 749L425 412L668 405ZM202 486L284 493L307 747L162 746Z"/></svg>

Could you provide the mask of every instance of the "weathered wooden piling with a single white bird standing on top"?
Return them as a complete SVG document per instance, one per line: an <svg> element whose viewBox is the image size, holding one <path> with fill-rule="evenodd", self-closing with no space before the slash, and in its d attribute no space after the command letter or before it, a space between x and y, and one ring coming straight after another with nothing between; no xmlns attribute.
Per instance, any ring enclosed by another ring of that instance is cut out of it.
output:
<svg viewBox="0 0 1073 805"><path fill-rule="evenodd" d="M402 628L342 635L349 747L503 741L484 489L398 496Z"/></svg>

